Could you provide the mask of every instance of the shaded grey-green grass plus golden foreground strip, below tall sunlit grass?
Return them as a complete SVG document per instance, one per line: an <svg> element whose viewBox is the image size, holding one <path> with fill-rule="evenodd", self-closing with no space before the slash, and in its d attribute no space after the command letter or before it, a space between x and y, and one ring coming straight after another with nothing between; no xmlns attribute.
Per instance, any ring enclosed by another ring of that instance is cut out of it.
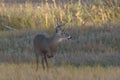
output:
<svg viewBox="0 0 120 80"><path fill-rule="evenodd" d="M66 29L73 37L57 52L59 73L49 61L50 71L35 68L32 40L48 30L0 32L0 80L119 80L120 25ZM74 46L74 47L73 47ZM64 58L63 53L67 58Z"/></svg>

